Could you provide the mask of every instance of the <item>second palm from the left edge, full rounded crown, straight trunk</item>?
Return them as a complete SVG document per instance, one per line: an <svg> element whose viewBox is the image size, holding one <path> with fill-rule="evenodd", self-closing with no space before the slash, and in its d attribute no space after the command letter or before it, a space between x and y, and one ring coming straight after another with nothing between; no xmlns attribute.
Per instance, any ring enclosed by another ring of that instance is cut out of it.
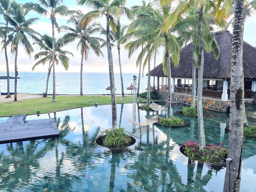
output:
<svg viewBox="0 0 256 192"><path fill-rule="evenodd" d="M17 79L18 79L18 45L21 44L26 53L31 56L34 51L28 38L38 40L36 36L40 36L39 33L31 29L29 26L34 24L38 18L26 19L29 10L22 7L22 4L13 2L11 4L12 11L5 20L9 23L10 27L1 27L4 29L4 33L7 35L7 40L4 43L4 47L11 45L11 53L15 54L14 66L15 66L15 81L14 81L14 101L17 101Z"/></svg>

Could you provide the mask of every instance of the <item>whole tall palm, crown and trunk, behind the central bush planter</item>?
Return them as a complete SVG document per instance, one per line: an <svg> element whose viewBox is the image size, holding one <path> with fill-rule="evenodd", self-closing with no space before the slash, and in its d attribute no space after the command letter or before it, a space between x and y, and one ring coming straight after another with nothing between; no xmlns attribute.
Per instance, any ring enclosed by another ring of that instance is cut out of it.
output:
<svg viewBox="0 0 256 192"><path fill-rule="evenodd" d="M126 0L79 0L78 4L88 6L95 11L90 11L85 14L82 20L82 25L90 21L90 18L99 18L100 16L106 16L106 41L108 51L108 67L110 77L110 94L111 94L111 105L112 105L112 129L117 126L117 104L116 104L116 93L115 93L115 79L113 71L113 57L110 42L110 25L114 27L114 17L119 18L121 14L126 14L128 19L133 18L133 14L130 9L124 7Z"/></svg>

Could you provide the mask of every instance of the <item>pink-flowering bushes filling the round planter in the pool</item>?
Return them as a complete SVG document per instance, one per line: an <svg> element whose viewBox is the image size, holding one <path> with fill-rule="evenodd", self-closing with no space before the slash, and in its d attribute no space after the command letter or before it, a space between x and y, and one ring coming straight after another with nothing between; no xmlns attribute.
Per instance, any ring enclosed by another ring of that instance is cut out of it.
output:
<svg viewBox="0 0 256 192"><path fill-rule="evenodd" d="M187 157L207 163L223 163L227 157L227 148L221 142L219 146L210 144L199 149L199 143L188 140L182 150Z"/></svg>

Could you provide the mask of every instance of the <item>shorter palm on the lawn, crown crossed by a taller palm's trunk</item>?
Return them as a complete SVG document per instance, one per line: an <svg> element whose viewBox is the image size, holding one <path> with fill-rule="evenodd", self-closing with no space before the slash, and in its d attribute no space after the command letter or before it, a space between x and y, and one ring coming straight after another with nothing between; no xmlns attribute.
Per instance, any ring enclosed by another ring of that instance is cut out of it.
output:
<svg viewBox="0 0 256 192"><path fill-rule="evenodd" d="M58 63L61 63L65 70L68 69L68 63L70 59L66 56L67 54L70 54L73 56L73 54L69 51L64 51L61 49L63 47L62 38L59 38L58 40L55 40L55 49L54 49L54 58L56 61L56 65ZM45 90L45 97L47 97L47 91L48 91L48 83L49 83L49 76L51 74L52 70L52 37L43 35L41 39L38 42L34 42L34 44L38 45L40 47L40 51L37 54L34 55L34 59L40 59L36 64L32 67L32 71L34 71L35 67L38 65L45 65L45 63L49 63L48 67L48 75L47 75L47 81L46 81L46 90Z"/></svg>

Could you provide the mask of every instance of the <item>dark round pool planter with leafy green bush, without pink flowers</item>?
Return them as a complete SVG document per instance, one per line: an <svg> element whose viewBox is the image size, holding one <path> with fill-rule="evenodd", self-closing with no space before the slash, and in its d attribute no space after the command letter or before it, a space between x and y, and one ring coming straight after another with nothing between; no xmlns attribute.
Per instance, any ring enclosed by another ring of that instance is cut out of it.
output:
<svg viewBox="0 0 256 192"><path fill-rule="evenodd" d="M106 129L101 136L95 139L95 143L111 150L125 149L135 143L135 138L128 135L123 127Z"/></svg>

